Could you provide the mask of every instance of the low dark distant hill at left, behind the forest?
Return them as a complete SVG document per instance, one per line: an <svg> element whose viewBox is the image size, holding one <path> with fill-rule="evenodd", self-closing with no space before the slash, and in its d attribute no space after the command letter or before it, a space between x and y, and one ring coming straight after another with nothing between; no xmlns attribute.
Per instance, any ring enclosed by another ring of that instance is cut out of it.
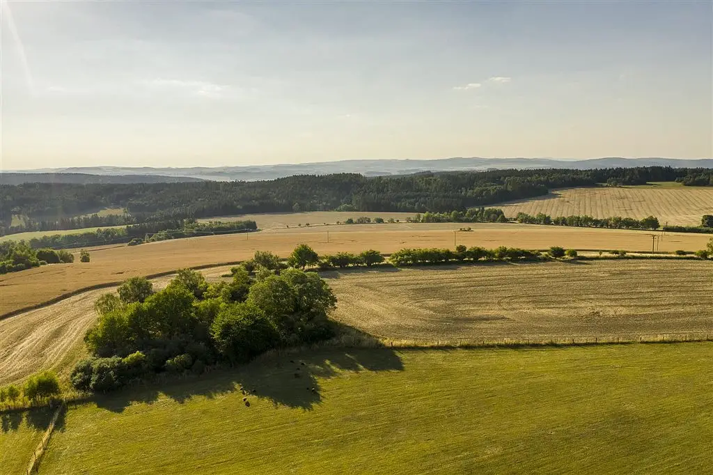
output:
<svg viewBox="0 0 713 475"><path fill-rule="evenodd" d="M204 181L202 178L165 175L91 175L89 173L0 173L0 184L20 185L21 183L185 183Z"/></svg>

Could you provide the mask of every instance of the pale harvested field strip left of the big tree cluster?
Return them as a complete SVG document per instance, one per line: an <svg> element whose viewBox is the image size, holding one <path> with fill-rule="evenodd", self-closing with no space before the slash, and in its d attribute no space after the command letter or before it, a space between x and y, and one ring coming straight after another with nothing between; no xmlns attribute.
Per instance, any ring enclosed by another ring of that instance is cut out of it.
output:
<svg viewBox="0 0 713 475"><path fill-rule="evenodd" d="M215 267L202 273L207 280L216 280L229 271L229 267ZM165 287L172 277L153 279L154 288ZM115 290L89 290L0 321L0 384L19 381L41 369L67 374L85 352L84 334L96 320L94 302Z"/></svg>

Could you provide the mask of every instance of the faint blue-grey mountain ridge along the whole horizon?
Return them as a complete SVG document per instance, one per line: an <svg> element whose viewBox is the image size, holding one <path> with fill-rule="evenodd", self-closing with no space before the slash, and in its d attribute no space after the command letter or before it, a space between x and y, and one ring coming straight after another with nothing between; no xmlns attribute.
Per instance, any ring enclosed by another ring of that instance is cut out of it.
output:
<svg viewBox="0 0 713 475"><path fill-rule="evenodd" d="M642 166L670 166L674 168L713 168L713 158L698 160L676 158L590 158L588 160L555 160L553 158L438 158L432 160L342 160L322 163L295 163L278 165L248 165L248 166L223 166L223 167L187 167L187 168L152 168L152 167L71 167L71 168L43 168L39 170L14 170L26 174L51 173L55 175L84 174L100 176L142 176L156 177L156 181L191 181L199 180L217 181L256 181L274 180L291 175L329 175L331 173L361 173L366 176L379 175L409 175L426 171L457 171L457 170L488 170L491 168L565 168L572 170L586 170L590 168L633 168ZM4 177L9 173L2 173ZM160 177L160 178L159 178ZM3 183L6 183L4 178ZM54 183L81 183L60 182ZM90 183L90 182L87 182ZM152 181L136 182L91 182L91 183L155 183Z"/></svg>

